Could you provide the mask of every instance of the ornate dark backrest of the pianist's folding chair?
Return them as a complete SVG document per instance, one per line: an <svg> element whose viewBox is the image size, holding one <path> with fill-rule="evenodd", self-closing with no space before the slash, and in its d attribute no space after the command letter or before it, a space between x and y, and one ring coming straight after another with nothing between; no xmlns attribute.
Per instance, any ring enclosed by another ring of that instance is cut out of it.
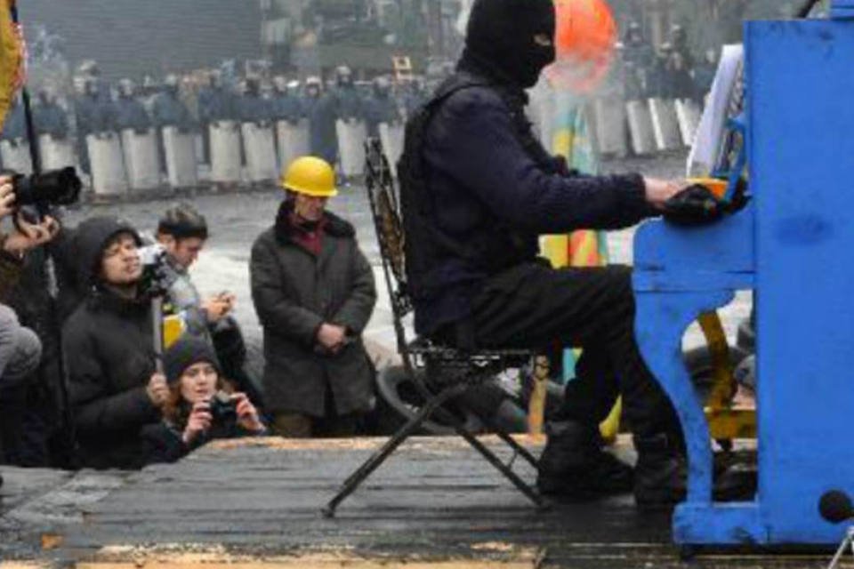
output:
<svg viewBox="0 0 854 569"><path fill-rule="evenodd" d="M401 355L407 353L404 317L412 312L412 299L407 292L406 257L404 255L403 220L391 167L380 140L365 141L365 186L371 204L376 240L380 245L385 284L389 289L394 332Z"/></svg>

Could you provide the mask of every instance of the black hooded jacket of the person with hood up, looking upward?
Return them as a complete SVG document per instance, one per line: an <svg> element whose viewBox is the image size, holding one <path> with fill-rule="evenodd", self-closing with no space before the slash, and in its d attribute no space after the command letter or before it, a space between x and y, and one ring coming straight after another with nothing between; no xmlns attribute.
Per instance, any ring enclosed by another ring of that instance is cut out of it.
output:
<svg viewBox="0 0 854 569"><path fill-rule="evenodd" d="M155 371L150 303L121 298L97 278L105 245L121 232L139 239L110 218L77 228L73 249L88 293L62 328L80 459L94 469L140 466L140 429L160 419L146 392Z"/></svg>

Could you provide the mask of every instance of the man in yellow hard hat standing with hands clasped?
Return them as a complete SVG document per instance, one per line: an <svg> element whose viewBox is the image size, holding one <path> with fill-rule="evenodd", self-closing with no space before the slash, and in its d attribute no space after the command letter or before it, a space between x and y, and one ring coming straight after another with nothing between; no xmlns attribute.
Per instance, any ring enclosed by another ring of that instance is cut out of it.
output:
<svg viewBox="0 0 854 569"><path fill-rule="evenodd" d="M264 330L263 384L283 437L346 437L373 402L361 333L374 310L374 273L350 223L326 211L332 166L291 163L275 224L255 240L250 278Z"/></svg>

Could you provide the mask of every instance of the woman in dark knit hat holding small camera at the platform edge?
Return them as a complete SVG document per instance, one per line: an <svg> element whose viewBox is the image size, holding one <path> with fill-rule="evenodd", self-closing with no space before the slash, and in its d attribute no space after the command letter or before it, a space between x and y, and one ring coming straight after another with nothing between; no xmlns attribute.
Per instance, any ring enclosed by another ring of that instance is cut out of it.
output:
<svg viewBox="0 0 854 569"><path fill-rule="evenodd" d="M210 343L184 335L163 357L163 421L142 429L146 463L174 462L217 438L261 437L267 428L245 393L232 393Z"/></svg>

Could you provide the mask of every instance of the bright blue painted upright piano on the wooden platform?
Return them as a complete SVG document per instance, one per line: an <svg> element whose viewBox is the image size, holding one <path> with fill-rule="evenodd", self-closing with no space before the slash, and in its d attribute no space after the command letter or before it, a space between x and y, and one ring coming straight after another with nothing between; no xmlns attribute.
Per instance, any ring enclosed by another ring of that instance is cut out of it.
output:
<svg viewBox="0 0 854 569"><path fill-rule="evenodd" d="M679 413L688 498L677 543L836 543L821 496L854 496L854 1L827 20L745 24L752 200L705 228L653 220L634 242L636 330ZM752 289L758 492L716 503L703 405L681 361L688 325Z"/></svg>

